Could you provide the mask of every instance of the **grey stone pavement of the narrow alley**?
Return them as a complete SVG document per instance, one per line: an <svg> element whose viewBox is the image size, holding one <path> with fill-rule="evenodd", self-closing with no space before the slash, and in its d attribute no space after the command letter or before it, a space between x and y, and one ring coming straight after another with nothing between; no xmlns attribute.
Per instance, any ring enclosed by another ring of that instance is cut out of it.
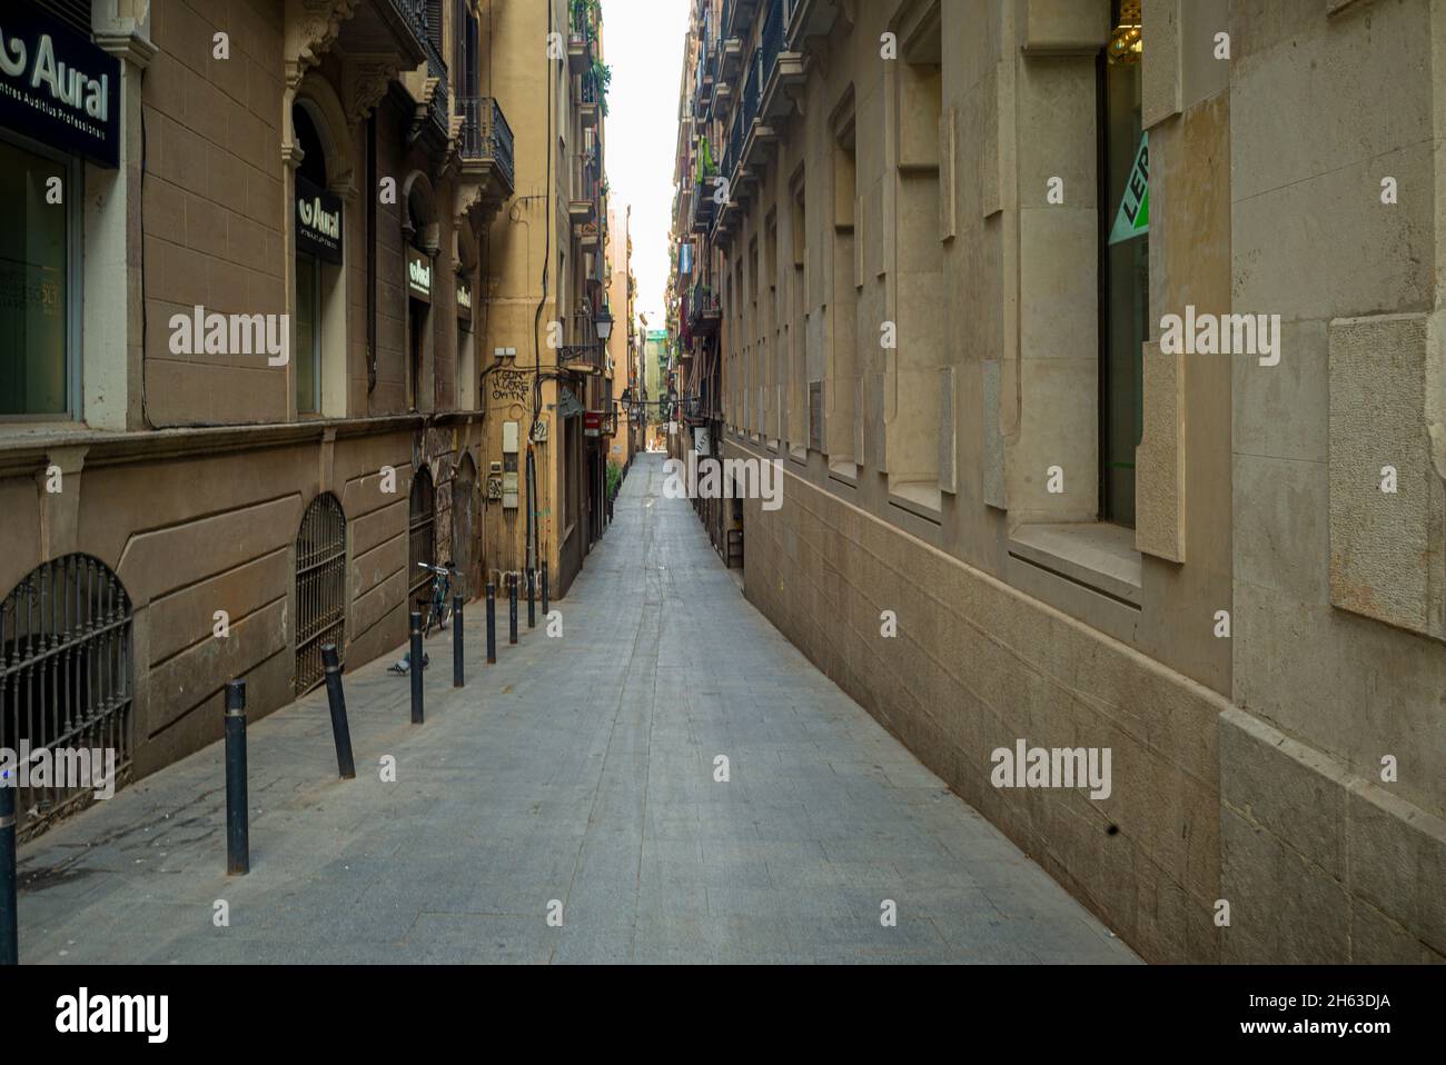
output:
<svg viewBox="0 0 1446 1065"><path fill-rule="evenodd" d="M523 604L506 646L503 601L489 668L469 607L461 692L429 640L425 725L401 649L348 673L356 780L324 691L253 724L250 876L220 744L23 847L22 961L1135 961L743 600L662 483L635 462L561 639Z"/></svg>

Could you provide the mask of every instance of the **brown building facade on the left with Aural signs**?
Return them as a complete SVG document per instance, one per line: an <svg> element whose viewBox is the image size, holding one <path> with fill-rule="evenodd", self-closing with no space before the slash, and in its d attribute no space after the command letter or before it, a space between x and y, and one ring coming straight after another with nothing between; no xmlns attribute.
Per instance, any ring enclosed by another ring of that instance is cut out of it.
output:
<svg viewBox="0 0 1446 1065"><path fill-rule="evenodd" d="M551 149L591 143L600 173L599 25L562 0L6 14L0 746L113 746L145 776L220 737L227 681L256 720L324 644L399 647L419 564L467 595L523 569L519 513L565 591L562 399L602 374L534 355L602 270L573 221L600 181ZM35 79L43 55L88 98ZM516 503L513 464L541 473ZM22 832L82 798L22 795Z"/></svg>

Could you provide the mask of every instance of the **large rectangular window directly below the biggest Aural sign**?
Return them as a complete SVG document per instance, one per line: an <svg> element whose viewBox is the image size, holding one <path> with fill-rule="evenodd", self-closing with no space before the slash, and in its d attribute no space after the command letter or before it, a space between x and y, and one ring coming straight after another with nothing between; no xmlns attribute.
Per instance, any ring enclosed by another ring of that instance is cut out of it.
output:
<svg viewBox="0 0 1446 1065"><path fill-rule="evenodd" d="M80 166L35 149L0 139L0 418L80 412Z"/></svg>

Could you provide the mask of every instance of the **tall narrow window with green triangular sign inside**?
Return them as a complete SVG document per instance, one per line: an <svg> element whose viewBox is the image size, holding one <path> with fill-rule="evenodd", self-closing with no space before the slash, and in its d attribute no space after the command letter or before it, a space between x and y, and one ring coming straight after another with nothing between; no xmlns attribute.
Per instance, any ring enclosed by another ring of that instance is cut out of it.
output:
<svg viewBox="0 0 1446 1065"><path fill-rule="evenodd" d="M1100 520L1135 525L1150 335L1148 143L1141 121L1139 0L1115 0L1100 56ZM1144 191L1142 191L1144 189Z"/></svg>

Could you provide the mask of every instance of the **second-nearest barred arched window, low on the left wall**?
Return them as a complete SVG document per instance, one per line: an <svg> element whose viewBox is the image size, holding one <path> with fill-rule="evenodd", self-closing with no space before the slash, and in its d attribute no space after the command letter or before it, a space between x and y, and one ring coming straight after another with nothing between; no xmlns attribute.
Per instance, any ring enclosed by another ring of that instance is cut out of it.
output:
<svg viewBox="0 0 1446 1065"><path fill-rule="evenodd" d="M296 694L325 676L321 649L346 656L347 516L330 491L311 500L296 533Z"/></svg>

